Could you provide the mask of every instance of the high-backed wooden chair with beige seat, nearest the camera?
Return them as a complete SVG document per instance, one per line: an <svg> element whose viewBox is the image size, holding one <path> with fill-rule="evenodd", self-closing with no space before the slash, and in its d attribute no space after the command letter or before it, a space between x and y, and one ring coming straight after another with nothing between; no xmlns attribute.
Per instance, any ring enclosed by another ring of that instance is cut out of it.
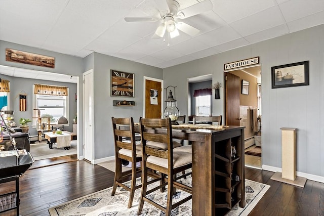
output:
<svg viewBox="0 0 324 216"><path fill-rule="evenodd" d="M154 205L155 207L166 212L166 215L171 214L171 209L181 205L182 203L190 200L192 195L172 204L172 196L175 188L181 189L188 193L192 193L192 188L177 182L181 177L176 178L176 174L182 172L185 169L192 167L192 154L181 151L182 147L172 147L172 129L170 118L158 119L158 118L141 118L141 138L142 138L142 192L141 200L138 206L137 214L141 214L144 201ZM164 128L164 129L160 129ZM168 150L159 150L151 148L146 145L146 141L155 141L160 143L166 143ZM161 180L163 184L156 186L147 191L147 177L148 169L153 169L160 172ZM168 178L166 178L168 176ZM167 207L151 201L146 196L150 193L161 189L168 185L168 200Z"/></svg>

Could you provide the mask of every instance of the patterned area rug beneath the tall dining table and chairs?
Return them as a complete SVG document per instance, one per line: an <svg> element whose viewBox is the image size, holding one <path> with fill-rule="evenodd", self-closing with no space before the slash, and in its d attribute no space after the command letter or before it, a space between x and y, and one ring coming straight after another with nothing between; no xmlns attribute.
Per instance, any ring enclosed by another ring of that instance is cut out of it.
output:
<svg viewBox="0 0 324 216"><path fill-rule="evenodd" d="M183 183L191 185L191 177L187 177L187 179L182 179ZM137 179L137 183L140 184L140 178ZM151 187L154 184L151 184ZM262 198L265 192L270 188L269 185L265 185L262 183L254 182L251 180L245 180L246 185L246 206L245 208L240 208L238 205L234 206L233 209L227 214L230 216L237 215L248 215L249 212L255 207L258 201ZM108 189L104 189L102 191L95 192L93 194L89 194L84 197L80 197L74 200L71 200L66 203L62 203L60 205L49 208L49 212L51 216L67 216L67 215L87 215L87 216L110 216L110 215L137 215L138 203L140 200L141 189L137 189L135 191L135 196L133 200L133 206L131 208L127 208L128 199L129 199L129 191L121 187L117 187L116 193L114 196L111 196L112 187ZM189 194L178 190L176 195L174 195L173 199L182 199L183 197L188 196ZM151 198L158 203L164 203L166 206L166 197L167 191L164 193L155 192L151 195ZM153 205L144 202L144 207L142 210L143 215L165 215L163 211L158 208L155 208ZM172 210L172 215L181 215L188 216L192 215L192 200L189 200L182 205L174 208Z"/></svg>

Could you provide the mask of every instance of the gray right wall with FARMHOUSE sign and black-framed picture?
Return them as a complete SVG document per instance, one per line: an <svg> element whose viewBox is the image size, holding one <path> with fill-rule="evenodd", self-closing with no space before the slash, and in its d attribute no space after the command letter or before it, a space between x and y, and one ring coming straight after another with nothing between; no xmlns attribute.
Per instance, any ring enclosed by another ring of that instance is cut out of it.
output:
<svg viewBox="0 0 324 216"><path fill-rule="evenodd" d="M260 57L262 67L262 163L281 168L281 127L298 128L297 171L324 182L324 25L164 69L165 85L177 89L180 110L186 110L187 78L213 73L224 80L224 64ZM217 49L217 48L216 48ZM309 85L271 89L271 67L309 61ZM180 84L179 84L180 83ZM213 92L214 94L214 92ZM221 100L213 100L213 115L224 115ZM183 113L185 114L185 113Z"/></svg>

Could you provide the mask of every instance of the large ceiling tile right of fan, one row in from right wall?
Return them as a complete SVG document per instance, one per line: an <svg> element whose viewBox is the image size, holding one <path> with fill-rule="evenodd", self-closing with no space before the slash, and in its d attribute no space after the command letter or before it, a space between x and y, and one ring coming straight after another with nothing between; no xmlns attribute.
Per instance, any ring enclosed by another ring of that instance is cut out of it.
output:
<svg viewBox="0 0 324 216"><path fill-rule="evenodd" d="M254 34L274 26L284 24L281 12L277 6L256 13L230 24L242 36Z"/></svg>

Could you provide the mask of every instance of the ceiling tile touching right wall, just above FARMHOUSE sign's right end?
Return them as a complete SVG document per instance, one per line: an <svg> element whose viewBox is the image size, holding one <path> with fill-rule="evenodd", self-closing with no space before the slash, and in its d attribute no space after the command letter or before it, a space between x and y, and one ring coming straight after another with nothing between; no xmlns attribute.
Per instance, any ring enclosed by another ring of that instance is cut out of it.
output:
<svg viewBox="0 0 324 216"><path fill-rule="evenodd" d="M245 36L244 38L250 42L250 44L254 44L256 42L270 39L273 37L278 37L284 34L288 34L289 29L286 24L278 25L273 28L266 29L264 31L260 31L248 36Z"/></svg>

